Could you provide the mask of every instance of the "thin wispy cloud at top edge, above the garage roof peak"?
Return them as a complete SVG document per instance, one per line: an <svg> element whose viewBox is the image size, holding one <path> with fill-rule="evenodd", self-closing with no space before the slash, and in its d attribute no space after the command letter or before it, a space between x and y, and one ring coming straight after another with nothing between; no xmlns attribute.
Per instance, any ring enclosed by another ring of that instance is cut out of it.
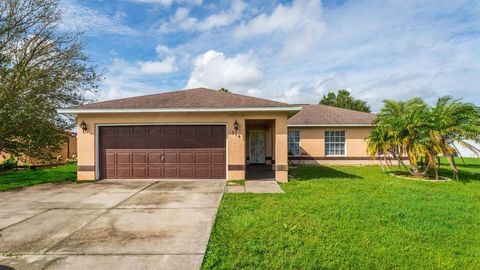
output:
<svg viewBox="0 0 480 270"><path fill-rule="evenodd" d="M247 5L241 0L235 0L229 9L212 14L204 20L190 17L190 9L180 7L167 22L160 25L161 32L182 31L209 31L212 29L228 26L238 21Z"/></svg>

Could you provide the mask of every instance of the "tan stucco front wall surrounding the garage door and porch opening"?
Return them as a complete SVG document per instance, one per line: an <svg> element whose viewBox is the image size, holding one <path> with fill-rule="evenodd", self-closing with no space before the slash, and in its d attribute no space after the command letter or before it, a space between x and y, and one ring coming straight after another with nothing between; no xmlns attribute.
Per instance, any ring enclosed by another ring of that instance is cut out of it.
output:
<svg viewBox="0 0 480 270"><path fill-rule="evenodd" d="M95 161L95 133L99 124L227 124L227 163L228 165L245 165L245 120L272 119L276 122L277 164L287 166L287 113L136 113L136 114L80 114L77 116L78 165L83 168L93 168ZM87 124L88 131L82 132L80 123ZM234 122L239 124L235 133ZM282 156L284 155L284 156ZM98 168L95 168L98 170ZM288 172L277 172L278 181L287 181ZM228 170L228 179L244 179L245 170ZM81 170L78 180L95 180L95 171Z"/></svg>

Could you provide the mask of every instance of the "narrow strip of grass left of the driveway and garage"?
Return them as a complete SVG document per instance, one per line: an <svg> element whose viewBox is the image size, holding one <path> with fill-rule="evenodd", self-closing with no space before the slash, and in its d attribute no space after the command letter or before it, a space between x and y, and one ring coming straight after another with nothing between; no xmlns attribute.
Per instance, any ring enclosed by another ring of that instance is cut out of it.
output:
<svg viewBox="0 0 480 270"><path fill-rule="evenodd" d="M0 171L0 191L6 191L43 183L75 181L77 165L67 164L51 168L22 171Z"/></svg>

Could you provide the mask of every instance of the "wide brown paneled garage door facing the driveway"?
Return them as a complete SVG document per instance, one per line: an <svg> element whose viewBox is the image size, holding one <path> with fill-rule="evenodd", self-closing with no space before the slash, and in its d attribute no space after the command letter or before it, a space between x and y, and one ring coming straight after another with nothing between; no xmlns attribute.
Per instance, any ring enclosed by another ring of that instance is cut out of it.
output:
<svg viewBox="0 0 480 270"><path fill-rule="evenodd" d="M225 126L100 127L100 178L226 178Z"/></svg>

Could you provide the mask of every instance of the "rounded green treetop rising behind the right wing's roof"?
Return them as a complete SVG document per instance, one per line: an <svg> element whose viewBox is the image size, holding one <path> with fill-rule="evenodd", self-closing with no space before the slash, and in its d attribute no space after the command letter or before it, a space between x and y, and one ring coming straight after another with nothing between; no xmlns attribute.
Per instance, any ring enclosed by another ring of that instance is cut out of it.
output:
<svg viewBox="0 0 480 270"><path fill-rule="evenodd" d="M328 92L322 97L319 104L360 112L371 112L366 101L352 97L350 92L345 89L338 90L337 93L334 91Z"/></svg>

